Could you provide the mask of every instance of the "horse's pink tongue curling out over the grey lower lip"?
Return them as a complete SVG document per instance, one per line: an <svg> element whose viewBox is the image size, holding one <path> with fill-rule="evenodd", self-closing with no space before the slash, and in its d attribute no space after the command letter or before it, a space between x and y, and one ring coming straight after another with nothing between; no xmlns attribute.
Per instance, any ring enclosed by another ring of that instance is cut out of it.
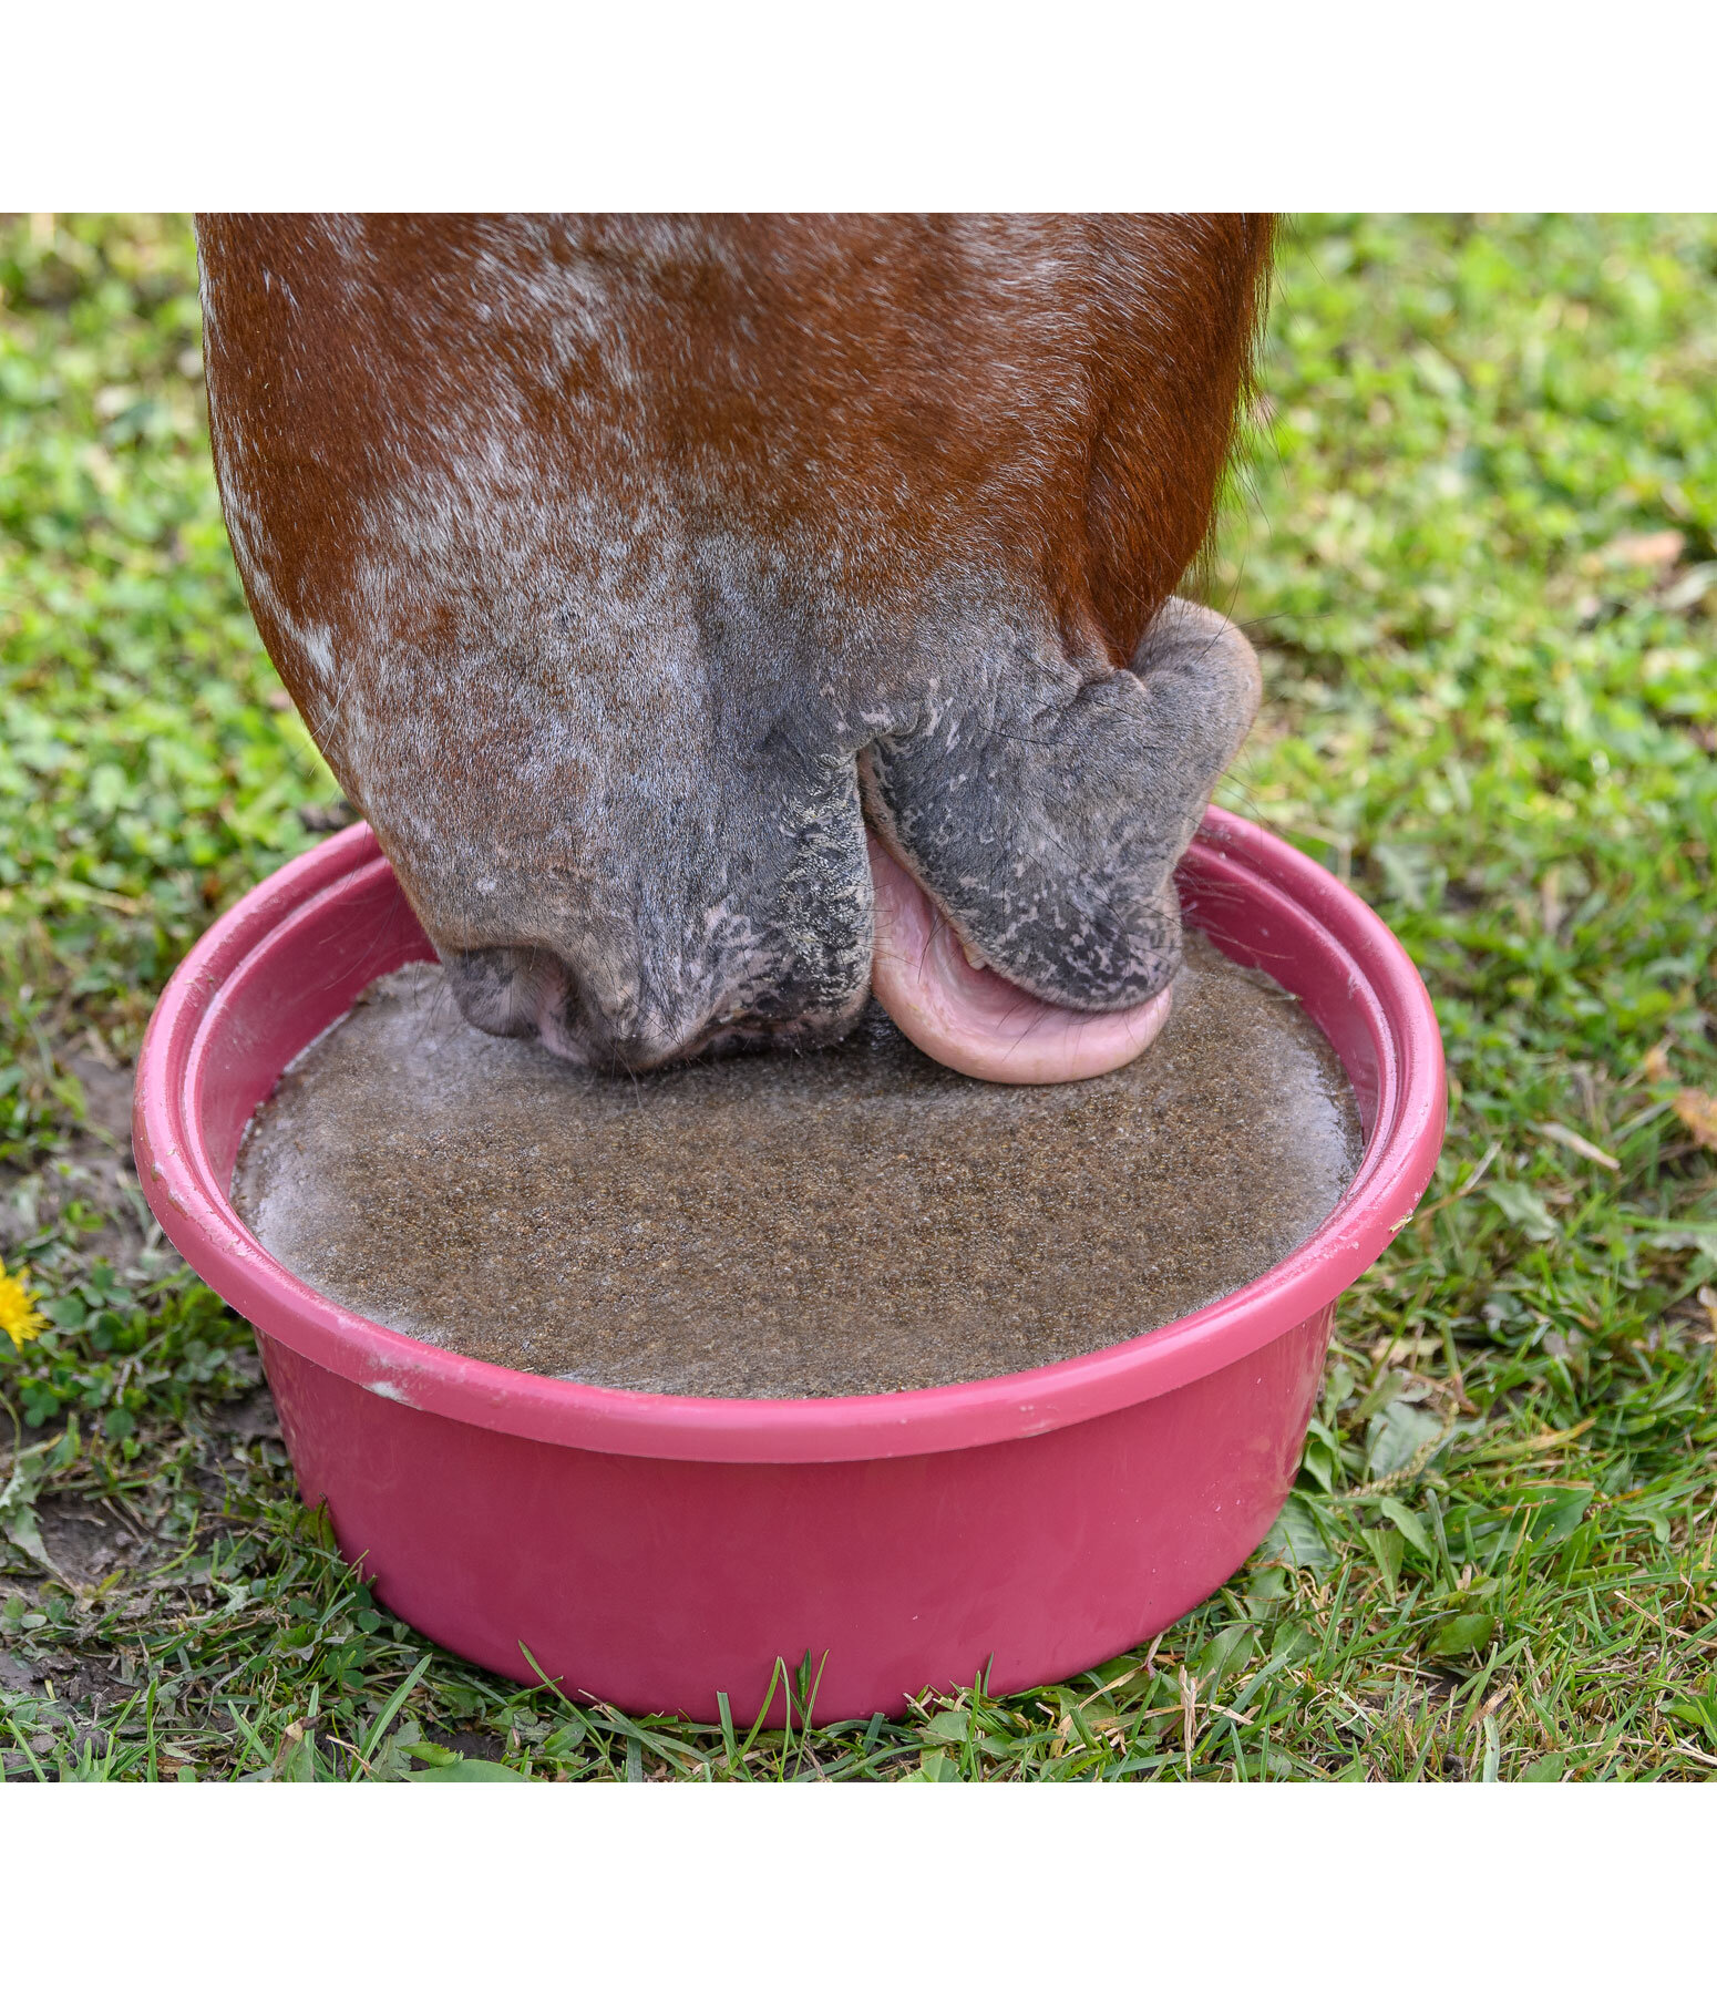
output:
<svg viewBox="0 0 1717 1994"><path fill-rule="evenodd" d="M1131 1011L1065 1011L993 969L973 969L923 887L875 839L871 989L919 1051L979 1081L1047 1085L1113 1073L1157 1037L1171 993Z"/></svg>

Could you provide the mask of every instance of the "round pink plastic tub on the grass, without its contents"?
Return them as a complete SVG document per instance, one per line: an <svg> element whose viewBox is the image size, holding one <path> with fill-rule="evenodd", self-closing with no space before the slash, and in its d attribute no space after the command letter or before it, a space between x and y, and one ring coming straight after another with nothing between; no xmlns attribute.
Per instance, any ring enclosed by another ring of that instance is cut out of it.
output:
<svg viewBox="0 0 1717 1994"><path fill-rule="evenodd" d="M281 1069L431 955L367 826L247 893L185 957L138 1065L150 1206L255 1324L305 1501L391 1611L570 1695L750 1723L806 1653L822 1719L1089 1669L1258 1545L1306 1438L1336 1296L1442 1145L1436 1015L1378 917L1212 810L1187 913L1324 1029L1360 1101L1350 1190L1260 1280L1095 1356L869 1398L720 1400L532 1378L379 1328L271 1260L227 1198ZM774 1711L780 1715L780 1693Z"/></svg>

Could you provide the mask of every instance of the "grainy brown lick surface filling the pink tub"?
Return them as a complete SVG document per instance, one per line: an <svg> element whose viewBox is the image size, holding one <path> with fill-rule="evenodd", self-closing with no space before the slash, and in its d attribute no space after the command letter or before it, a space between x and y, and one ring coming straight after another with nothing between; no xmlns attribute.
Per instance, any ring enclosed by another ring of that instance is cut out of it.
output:
<svg viewBox="0 0 1717 1994"><path fill-rule="evenodd" d="M1358 1166L1324 1037L1197 933L1131 1067L995 1087L879 1011L828 1051L642 1079L373 983L245 1133L233 1198L347 1308L642 1392L899 1392L1101 1350L1242 1286Z"/></svg>

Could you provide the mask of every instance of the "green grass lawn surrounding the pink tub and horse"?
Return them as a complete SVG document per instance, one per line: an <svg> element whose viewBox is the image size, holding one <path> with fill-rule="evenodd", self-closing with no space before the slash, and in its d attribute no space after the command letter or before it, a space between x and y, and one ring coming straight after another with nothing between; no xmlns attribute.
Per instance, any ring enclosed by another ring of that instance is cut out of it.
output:
<svg viewBox="0 0 1717 1994"><path fill-rule="evenodd" d="M148 1224L156 993L339 800L227 556L185 227L8 223L0 289L0 1250L52 1314L0 1338L8 1777L1711 1777L1717 221L1288 241L1210 572L1266 666L1224 800L1412 949L1444 1163L1218 1597L1073 1683L750 1739L379 1611Z"/></svg>

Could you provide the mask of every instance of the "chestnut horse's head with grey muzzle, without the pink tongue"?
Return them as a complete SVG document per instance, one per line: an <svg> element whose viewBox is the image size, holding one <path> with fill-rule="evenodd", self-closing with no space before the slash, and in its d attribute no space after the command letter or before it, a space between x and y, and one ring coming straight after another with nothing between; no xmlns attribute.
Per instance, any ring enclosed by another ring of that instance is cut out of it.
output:
<svg viewBox="0 0 1717 1994"><path fill-rule="evenodd" d="M1163 881L1127 881L1185 843L1246 670L1141 684L1210 528L1266 217L199 241L251 608L477 1021L628 1065L842 1029L861 764L1003 973L1107 1009L1173 969Z"/></svg>

